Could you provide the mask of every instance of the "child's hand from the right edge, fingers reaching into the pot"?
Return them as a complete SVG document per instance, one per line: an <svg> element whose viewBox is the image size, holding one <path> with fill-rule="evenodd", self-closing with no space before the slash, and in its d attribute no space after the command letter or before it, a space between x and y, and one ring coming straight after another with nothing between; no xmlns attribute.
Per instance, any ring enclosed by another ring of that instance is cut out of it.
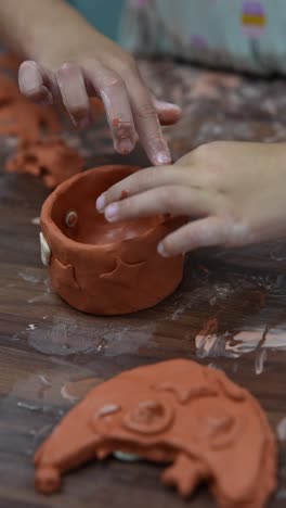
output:
<svg viewBox="0 0 286 508"><path fill-rule="evenodd" d="M120 201L122 191L128 198ZM210 245L238 246L286 234L286 145L212 142L173 166L142 169L96 202L109 221L155 214L190 221L158 246L172 256Z"/></svg>

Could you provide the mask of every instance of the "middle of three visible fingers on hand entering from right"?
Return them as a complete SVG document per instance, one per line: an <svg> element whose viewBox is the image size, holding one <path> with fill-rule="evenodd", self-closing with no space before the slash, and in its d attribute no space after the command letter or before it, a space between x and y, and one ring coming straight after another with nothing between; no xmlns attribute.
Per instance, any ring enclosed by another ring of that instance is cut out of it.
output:
<svg viewBox="0 0 286 508"><path fill-rule="evenodd" d="M158 214L202 216L208 213L210 201L210 196L197 190L180 186L160 187L112 203L104 215L110 223Z"/></svg>

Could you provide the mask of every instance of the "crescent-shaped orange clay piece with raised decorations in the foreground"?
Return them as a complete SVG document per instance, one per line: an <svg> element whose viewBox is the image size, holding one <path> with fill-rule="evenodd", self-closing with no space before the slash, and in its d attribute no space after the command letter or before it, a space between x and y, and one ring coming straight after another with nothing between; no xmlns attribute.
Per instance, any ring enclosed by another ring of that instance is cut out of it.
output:
<svg viewBox="0 0 286 508"><path fill-rule="evenodd" d="M182 496L208 482L223 508L261 508L276 487L276 440L258 402L219 370L179 359L126 371L94 388L35 455L36 487L118 450L169 462Z"/></svg>

